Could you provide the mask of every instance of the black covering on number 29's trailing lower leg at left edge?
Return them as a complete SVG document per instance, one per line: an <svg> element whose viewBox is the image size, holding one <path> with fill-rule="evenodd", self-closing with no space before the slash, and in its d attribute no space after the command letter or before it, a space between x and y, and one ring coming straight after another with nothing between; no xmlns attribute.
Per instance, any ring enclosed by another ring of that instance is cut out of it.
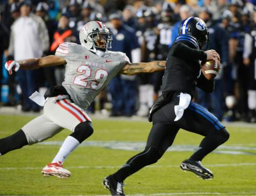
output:
<svg viewBox="0 0 256 196"><path fill-rule="evenodd" d="M0 153L1 155L4 155L9 151L20 149L28 144L24 131L20 129L13 135L0 139Z"/></svg>

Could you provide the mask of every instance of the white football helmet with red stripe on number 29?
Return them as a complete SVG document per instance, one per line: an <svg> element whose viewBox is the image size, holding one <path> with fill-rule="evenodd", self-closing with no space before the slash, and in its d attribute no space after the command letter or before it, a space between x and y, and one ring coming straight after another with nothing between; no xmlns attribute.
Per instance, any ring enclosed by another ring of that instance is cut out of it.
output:
<svg viewBox="0 0 256 196"><path fill-rule="evenodd" d="M79 33L79 40L81 45L96 53L97 50L106 51L111 48L112 36L105 24L95 20L84 24ZM97 44L99 41L101 45Z"/></svg>

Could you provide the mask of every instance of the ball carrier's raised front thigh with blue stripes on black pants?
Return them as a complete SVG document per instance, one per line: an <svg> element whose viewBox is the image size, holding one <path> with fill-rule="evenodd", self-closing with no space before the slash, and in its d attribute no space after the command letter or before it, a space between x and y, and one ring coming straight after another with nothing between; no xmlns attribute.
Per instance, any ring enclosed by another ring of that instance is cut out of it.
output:
<svg viewBox="0 0 256 196"><path fill-rule="evenodd" d="M180 128L203 136L211 131L224 128L219 119L206 108L191 102L180 120L176 122Z"/></svg>

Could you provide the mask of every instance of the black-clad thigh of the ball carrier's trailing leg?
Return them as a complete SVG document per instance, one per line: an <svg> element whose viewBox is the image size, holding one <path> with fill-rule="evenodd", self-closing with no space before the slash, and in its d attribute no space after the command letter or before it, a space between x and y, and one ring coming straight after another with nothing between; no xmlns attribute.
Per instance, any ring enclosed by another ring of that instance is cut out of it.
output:
<svg viewBox="0 0 256 196"><path fill-rule="evenodd" d="M168 149L178 133L179 128L163 123L154 123L147 138L147 147L153 147L159 151L161 155Z"/></svg>

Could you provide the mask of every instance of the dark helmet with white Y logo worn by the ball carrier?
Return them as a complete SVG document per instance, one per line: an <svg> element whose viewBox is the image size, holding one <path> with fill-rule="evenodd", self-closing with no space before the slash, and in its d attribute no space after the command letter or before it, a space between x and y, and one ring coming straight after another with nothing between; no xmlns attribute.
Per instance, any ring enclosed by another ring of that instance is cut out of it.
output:
<svg viewBox="0 0 256 196"><path fill-rule="evenodd" d="M183 20L179 26L179 35L189 35L196 38L199 48L202 49L209 42L209 32L205 22L197 17L189 17Z"/></svg>

